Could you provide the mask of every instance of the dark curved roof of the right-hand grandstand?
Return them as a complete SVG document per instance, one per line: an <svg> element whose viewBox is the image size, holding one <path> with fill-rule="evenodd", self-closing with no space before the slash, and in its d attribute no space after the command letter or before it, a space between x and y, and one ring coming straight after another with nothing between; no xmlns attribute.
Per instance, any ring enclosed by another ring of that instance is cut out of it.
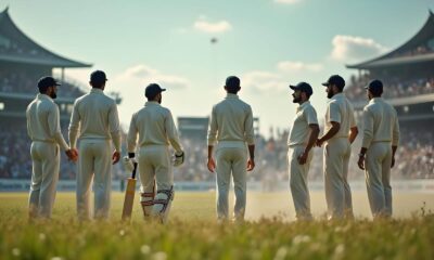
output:
<svg viewBox="0 0 434 260"><path fill-rule="evenodd" d="M417 50L417 48L425 46L430 49L429 53L403 55ZM430 11L430 15L423 27L410 40L387 54L380 57L362 62L354 65L346 65L347 68L370 69L379 67L388 67L395 65L410 65L422 62L434 61L434 14Z"/></svg>

